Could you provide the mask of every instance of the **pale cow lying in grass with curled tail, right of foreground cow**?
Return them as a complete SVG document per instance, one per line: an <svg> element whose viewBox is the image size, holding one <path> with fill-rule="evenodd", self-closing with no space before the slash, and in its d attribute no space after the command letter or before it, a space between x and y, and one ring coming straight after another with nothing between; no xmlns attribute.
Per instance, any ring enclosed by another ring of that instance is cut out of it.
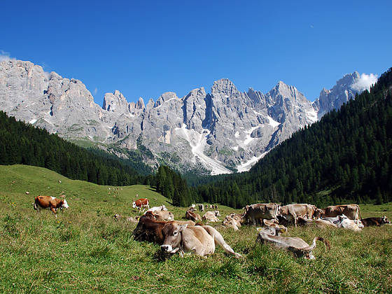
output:
<svg viewBox="0 0 392 294"><path fill-rule="evenodd" d="M327 248L330 248L330 244L327 240L322 237L315 237L311 245L307 244L304 240L298 237L282 237L279 233L283 230L281 228L272 228L265 226L264 228L258 228L257 241L272 243L277 248L283 248L294 253L297 258L309 258L314 259L313 249L316 247L316 241L323 241Z"/></svg>

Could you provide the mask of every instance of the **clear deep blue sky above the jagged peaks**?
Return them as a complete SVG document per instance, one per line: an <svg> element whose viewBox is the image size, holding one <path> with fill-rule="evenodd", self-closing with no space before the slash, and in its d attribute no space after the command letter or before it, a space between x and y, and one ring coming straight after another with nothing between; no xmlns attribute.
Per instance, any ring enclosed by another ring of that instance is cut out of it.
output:
<svg viewBox="0 0 392 294"><path fill-rule="evenodd" d="M3 1L0 55L82 80L102 105L279 80L309 100L392 66L392 1ZM276 3L272 3L276 2Z"/></svg>

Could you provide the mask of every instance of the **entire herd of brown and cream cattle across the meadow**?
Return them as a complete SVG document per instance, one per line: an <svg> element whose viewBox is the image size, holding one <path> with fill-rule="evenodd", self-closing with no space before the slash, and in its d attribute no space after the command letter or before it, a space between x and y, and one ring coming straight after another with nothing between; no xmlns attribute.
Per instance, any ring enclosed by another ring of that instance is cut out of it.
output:
<svg viewBox="0 0 392 294"><path fill-rule="evenodd" d="M167 211L165 205L160 207L149 207L148 199L139 199L132 203L132 207L146 211L139 220L130 218L137 222L134 229L134 239L139 241L150 241L160 245L164 253L193 252L197 255L209 255L215 252L215 246L220 245L224 251L240 258L241 255L236 253L223 239L222 235L216 228L210 225L204 225L202 221L210 223L219 222L221 214L218 207L214 204L207 204L207 209L203 216L197 214L204 212L204 204L193 204L186 211L185 217L188 221L175 221L174 214ZM34 200L34 209L48 208L56 215L57 209L68 208L66 200L59 200L50 196L38 196ZM115 218L119 216L116 215ZM222 225L234 230L239 230L241 225L251 224L261 227L257 228L257 241L262 243L268 242L278 248L285 248L294 253L297 257L314 259L311 251L316 247L316 241L323 241L327 248L330 244L322 237L315 237L312 244L307 244L298 237L284 237L281 233L287 232L286 226L289 224L297 225L315 225L318 228L344 228L353 231L360 231L363 227L370 225L391 224L383 216L381 218L361 218L360 208L357 204L334 205L318 209L311 204L288 204L280 206L276 203L251 204L244 207L243 214L231 213L225 216Z"/></svg>

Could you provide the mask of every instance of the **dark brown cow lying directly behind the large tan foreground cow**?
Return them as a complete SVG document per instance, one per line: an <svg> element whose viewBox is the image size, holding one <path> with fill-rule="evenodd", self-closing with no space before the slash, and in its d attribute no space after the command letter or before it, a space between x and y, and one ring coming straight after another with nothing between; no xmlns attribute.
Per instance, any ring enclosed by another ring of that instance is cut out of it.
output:
<svg viewBox="0 0 392 294"><path fill-rule="evenodd" d="M162 235L162 229L167 223L180 223L188 226L195 225L193 221L157 221L154 214L148 213L139 218L139 223L133 232L134 239L162 245L165 240Z"/></svg>

